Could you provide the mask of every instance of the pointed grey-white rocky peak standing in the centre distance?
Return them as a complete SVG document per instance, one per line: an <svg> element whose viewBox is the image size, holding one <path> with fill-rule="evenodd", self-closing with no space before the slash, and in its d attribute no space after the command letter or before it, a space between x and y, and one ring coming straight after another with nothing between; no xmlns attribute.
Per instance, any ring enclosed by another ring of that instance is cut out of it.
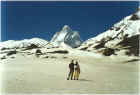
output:
<svg viewBox="0 0 140 95"><path fill-rule="evenodd" d="M79 33L72 31L68 25L65 25L60 32L57 32L51 40L54 46L60 46L63 42L72 48L79 47L82 43Z"/></svg>

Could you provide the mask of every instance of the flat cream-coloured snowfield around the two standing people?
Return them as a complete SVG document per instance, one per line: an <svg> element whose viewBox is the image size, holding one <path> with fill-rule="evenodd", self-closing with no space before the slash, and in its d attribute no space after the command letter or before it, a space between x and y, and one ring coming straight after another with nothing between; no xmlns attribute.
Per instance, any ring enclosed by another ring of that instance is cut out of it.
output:
<svg viewBox="0 0 140 95"><path fill-rule="evenodd" d="M78 52L78 54L83 52ZM88 55L88 54L87 54ZM138 61L126 57L16 54L1 61L1 93L138 93ZM66 80L68 64L78 59L79 80ZM134 58L133 58L134 59ZM3 95L2 94L2 95Z"/></svg>

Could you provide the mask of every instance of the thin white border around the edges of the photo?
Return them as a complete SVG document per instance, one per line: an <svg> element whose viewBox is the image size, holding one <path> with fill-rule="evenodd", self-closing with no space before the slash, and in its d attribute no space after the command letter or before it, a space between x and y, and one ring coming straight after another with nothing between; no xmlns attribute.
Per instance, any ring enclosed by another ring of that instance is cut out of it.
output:
<svg viewBox="0 0 140 95"><path fill-rule="evenodd" d="M140 4L140 0L0 0L0 22L1 22L1 2L2 1L138 1L139 4ZM140 5L139 5L140 6ZM2 31L1 31L1 24L0 23L0 42L2 41ZM140 43L140 42L139 42ZM140 54L140 44L139 44L139 54ZM140 63L140 61L139 61ZM2 70L1 69L2 65L0 64L0 92L1 92L1 88L2 88ZM139 64L139 68L140 68L140 64ZM139 70L140 72L140 70ZM139 89L140 89L140 73L139 73ZM140 92L137 93L137 94L23 94L23 93L20 93L20 94L1 94L0 95L140 95Z"/></svg>

